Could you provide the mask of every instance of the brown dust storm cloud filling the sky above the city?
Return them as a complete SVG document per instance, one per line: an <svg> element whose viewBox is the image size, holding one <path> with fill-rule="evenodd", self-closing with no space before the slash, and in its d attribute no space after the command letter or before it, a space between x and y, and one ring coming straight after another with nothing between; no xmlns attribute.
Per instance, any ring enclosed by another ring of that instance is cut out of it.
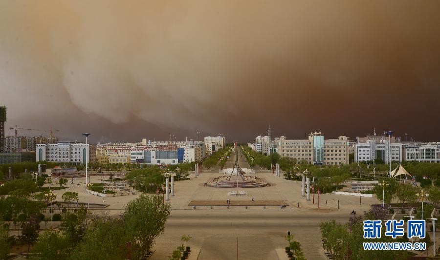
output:
<svg viewBox="0 0 440 260"><path fill-rule="evenodd" d="M61 140L246 141L268 124L440 140L439 13L438 0L5 0L0 104L7 127Z"/></svg>

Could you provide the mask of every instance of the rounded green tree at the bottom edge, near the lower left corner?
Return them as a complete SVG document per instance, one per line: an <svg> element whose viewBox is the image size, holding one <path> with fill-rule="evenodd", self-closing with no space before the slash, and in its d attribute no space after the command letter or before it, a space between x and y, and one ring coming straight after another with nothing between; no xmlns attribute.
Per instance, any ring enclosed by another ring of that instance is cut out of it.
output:
<svg viewBox="0 0 440 260"><path fill-rule="evenodd" d="M38 238L32 253L32 260L66 260L70 255L69 239L57 231L45 231Z"/></svg>

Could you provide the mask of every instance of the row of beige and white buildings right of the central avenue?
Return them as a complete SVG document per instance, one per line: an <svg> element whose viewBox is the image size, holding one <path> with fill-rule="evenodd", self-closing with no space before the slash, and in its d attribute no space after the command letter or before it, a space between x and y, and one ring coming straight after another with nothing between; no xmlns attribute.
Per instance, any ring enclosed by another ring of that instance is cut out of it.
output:
<svg viewBox="0 0 440 260"><path fill-rule="evenodd" d="M269 130L270 133L270 130ZM391 145L390 145L391 142ZM440 142L401 141L400 138L386 135L357 137L356 141L346 136L337 139L324 139L324 134L314 132L308 139L286 139L285 136L272 140L270 136L258 136L255 143L248 146L259 153L278 153L281 157L296 159L316 165L339 165L353 161L416 160L440 162Z"/></svg>

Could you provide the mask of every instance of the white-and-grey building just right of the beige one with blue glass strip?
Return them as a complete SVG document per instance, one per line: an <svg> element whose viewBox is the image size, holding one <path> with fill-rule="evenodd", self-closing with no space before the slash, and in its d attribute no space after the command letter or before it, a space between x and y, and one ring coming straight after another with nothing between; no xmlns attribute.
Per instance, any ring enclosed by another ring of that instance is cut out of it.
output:
<svg viewBox="0 0 440 260"><path fill-rule="evenodd" d="M391 151L390 151L391 149ZM396 142L395 137L367 136L357 138L354 145L354 161L383 160L385 163L391 161L402 161L402 144Z"/></svg>

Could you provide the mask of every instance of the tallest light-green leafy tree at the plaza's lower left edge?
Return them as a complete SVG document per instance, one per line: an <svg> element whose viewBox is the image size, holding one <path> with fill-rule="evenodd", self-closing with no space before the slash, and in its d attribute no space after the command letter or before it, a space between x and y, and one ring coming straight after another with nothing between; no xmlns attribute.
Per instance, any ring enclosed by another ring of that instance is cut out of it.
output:
<svg viewBox="0 0 440 260"><path fill-rule="evenodd" d="M127 203L123 213L124 225L137 256L150 250L155 238L162 234L170 207L170 203L163 203L157 196L145 194Z"/></svg>

